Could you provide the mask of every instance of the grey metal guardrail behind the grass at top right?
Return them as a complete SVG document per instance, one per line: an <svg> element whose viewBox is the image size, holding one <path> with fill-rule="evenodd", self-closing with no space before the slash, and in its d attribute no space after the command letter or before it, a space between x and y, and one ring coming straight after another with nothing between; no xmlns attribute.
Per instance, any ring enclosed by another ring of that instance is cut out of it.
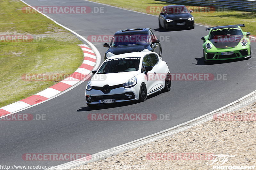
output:
<svg viewBox="0 0 256 170"><path fill-rule="evenodd" d="M256 0L161 0L175 4L192 4L199 6L220 6L241 11L256 12Z"/></svg>

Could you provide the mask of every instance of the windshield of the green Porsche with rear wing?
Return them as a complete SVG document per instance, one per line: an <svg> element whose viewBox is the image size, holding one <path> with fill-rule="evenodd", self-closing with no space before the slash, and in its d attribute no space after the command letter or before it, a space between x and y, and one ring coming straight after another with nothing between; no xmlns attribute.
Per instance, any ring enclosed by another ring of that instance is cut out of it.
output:
<svg viewBox="0 0 256 170"><path fill-rule="evenodd" d="M209 40L231 38L231 37L241 37L244 36L242 31L234 28L225 28L212 30L209 36Z"/></svg>

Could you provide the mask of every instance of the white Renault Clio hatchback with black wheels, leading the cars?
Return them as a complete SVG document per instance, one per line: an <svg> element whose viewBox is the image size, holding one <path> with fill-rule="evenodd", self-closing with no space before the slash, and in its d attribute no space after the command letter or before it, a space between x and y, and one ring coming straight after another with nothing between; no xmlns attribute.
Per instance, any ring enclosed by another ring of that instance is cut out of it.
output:
<svg viewBox="0 0 256 170"><path fill-rule="evenodd" d="M130 100L145 101L147 96L171 90L167 64L155 52L133 52L114 55L105 60L86 85L86 104Z"/></svg>

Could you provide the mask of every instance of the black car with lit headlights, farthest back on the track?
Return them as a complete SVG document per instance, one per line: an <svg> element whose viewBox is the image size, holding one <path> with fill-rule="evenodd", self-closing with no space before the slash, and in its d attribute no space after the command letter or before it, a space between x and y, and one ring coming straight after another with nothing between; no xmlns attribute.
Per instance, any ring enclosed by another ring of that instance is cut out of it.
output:
<svg viewBox="0 0 256 170"><path fill-rule="evenodd" d="M164 30L170 29L194 29L194 17L190 14L184 5L164 6L159 18L159 28Z"/></svg>

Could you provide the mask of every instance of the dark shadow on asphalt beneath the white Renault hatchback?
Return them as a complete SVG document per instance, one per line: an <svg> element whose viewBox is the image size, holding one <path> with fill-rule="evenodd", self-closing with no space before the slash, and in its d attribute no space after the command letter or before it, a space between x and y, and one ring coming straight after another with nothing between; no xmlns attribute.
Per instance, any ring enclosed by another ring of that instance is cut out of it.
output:
<svg viewBox="0 0 256 170"><path fill-rule="evenodd" d="M163 92L156 92L154 94L151 94L150 96L147 97L147 100L162 94ZM146 101L147 101L146 100ZM146 102L145 101L145 102ZM97 107L78 107L77 112L86 112L86 111L92 111L92 110L102 110L102 109L108 109L108 108L116 108L116 107L124 107L124 106L129 106L137 103L143 103L139 102L138 100L132 100L132 101L124 101L124 102L117 102L117 103L109 103L109 104L99 104Z"/></svg>

